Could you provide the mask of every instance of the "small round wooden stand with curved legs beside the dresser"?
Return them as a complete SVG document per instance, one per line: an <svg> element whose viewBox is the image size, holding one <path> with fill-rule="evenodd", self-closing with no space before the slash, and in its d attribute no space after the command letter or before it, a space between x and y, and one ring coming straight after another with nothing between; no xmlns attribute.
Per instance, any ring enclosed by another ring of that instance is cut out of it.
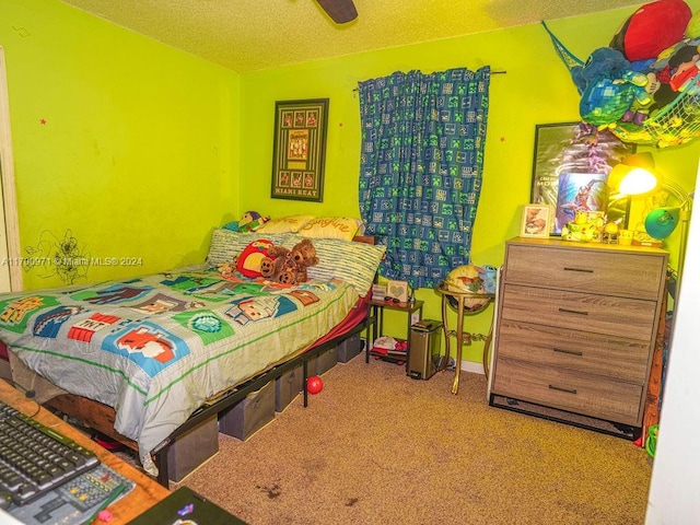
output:
<svg viewBox="0 0 700 525"><path fill-rule="evenodd" d="M469 345L472 339L480 338L483 340L483 373L488 377L488 349L491 342L493 334L493 319L491 319L491 326L489 334L483 336L481 334L469 334L464 331L464 316L476 315L483 312L489 304L495 299L494 293L474 293L474 292L457 292L450 290L444 281L441 281L435 287L435 291L442 295L442 325L445 332L445 359L443 361L442 370L445 370L447 362L450 361L450 341L452 337L457 339L457 355L455 359L455 380L452 384L452 393L457 394L459 390L459 372L462 371L462 347ZM453 306L457 311L457 329L451 330L447 325L447 305L452 302ZM468 340L465 340L465 337Z"/></svg>

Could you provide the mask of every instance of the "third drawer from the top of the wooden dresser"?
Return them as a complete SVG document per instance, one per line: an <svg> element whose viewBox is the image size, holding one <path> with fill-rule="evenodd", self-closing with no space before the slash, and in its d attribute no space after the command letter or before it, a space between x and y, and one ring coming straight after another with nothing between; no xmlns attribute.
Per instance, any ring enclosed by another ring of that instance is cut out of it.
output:
<svg viewBox="0 0 700 525"><path fill-rule="evenodd" d="M646 381L649 343L503 320L499 328L499 358L558 366L643 385Z"/></svg>

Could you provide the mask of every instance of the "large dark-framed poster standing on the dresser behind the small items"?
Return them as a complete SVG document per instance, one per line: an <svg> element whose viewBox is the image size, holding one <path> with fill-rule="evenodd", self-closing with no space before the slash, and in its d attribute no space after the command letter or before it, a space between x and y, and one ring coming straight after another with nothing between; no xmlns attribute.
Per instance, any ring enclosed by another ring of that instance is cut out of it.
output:
<svg viewBox="0 0 700 525"><path fill-rule="evenodd" d="M552 207L550 234L561 235L579 206L605 211L607 222L626 229L630 200L610 191L607 177L612 166L635 151L635 144L586 122L536 125L529 201Z"/></svg>

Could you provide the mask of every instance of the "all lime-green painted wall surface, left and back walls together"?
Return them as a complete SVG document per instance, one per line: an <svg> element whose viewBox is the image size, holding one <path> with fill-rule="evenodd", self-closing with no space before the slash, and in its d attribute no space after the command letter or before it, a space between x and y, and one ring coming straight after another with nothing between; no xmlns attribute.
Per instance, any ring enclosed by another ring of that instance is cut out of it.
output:
<svg viewBox="0 0 700 525"><path fill-rule="evenodd" d="M688 3L700 9L700 0ZM585 59L632 11L550 27ZM58 0L2 0L0 46L23 249L47 242L52 254L70 231L89 256L142 261L92 266L78 282L200 262L211 230L245 210L359 217L358 82L397 70L485 65L505 74L491 81L472 257L498 266L529 200L535 125L579 118L573 83L538 24L240 75ZM324 201L270 199L275 102L317 97L330 98ZM700 141L640 149L654 151L669 178L693 186ZM27 289L61 284L50 267L24 279ZM432 290L418 298L427 302L425 317L440 318ZM474 317L468 329L486 332L490 317L491 311ZM387 322L396 335L405 326L402 316L387 314ZM467 359L478 363L480 353L475 343Z"/></svg>

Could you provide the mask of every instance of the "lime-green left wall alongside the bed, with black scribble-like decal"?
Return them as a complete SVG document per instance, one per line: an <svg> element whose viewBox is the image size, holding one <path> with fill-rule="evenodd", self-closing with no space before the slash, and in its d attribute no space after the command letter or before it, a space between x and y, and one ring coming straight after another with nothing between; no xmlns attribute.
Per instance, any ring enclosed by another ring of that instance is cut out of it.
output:
<svg viewBox="0 0 700 525"><path fill-rule="evenodd" d="M70 232L103 264L77 282L201 262L238 215L238 74L57 0L2 0L0 46L23 255ZM27 269L25 289L62 271Z"/></svg>

